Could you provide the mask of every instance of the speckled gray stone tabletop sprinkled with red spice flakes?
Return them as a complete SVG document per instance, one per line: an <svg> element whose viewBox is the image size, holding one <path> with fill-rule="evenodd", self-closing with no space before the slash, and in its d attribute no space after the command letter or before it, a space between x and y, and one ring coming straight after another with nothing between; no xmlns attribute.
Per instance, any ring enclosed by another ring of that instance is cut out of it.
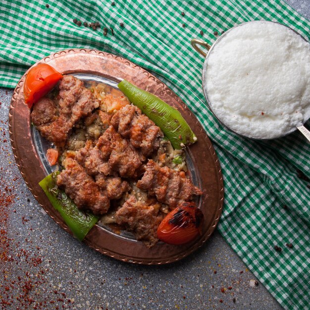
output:
<svg viewBox="0 0 310 310"><path fill-rule="evenodd" d="M309 0L287 2L310 18ZM217 231L202 249L165 266L105 257L63 231L15 164L7 124L12 92L0 89L2 309L282 309Z"/></svg>

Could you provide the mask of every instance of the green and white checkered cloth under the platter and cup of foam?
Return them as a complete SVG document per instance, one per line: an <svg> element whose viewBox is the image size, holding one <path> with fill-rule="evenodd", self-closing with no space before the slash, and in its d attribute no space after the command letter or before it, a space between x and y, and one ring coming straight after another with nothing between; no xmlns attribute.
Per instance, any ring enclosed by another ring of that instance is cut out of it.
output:
<svg viewBox="0 0 310 310"><path fill-rule="evenodd" d="M212 44L214 31L220 34L259 19L288 25L309 40L310 22L282 0L111 3L2 0L0 86L15 87L30 65L69 48L111 52L150 70L188 104L213 141L225 185L219 231L284 308L309 309L310 188L297 177L296 168L310 177L310 144L299 133L258 142L223 128L206 106L201 86L204 59L193 51L190 40L203 38ZM98 21L102 28L78 27L73 18ZM108 28L106 36L103 27ZM282 252L276 252L275 245Z"/></svg>

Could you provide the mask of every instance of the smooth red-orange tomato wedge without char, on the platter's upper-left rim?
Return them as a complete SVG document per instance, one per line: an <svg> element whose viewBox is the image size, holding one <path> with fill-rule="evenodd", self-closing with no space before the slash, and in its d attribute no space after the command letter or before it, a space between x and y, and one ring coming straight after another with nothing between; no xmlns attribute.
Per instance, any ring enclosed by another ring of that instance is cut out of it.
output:
<svg viewBox="0 0 310 310"><path fill-rule="evenodd" d="M49 93L62 74L47 63L39 63L29 70L24 83L25 103L32 107L40 98Z"/></svg>

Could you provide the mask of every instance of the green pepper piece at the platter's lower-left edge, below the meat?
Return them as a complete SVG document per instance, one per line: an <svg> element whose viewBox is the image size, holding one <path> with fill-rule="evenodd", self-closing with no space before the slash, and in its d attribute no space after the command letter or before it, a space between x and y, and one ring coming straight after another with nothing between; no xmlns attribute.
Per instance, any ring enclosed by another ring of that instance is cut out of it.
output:
<svg viewBox="0 0 310 310"><path fill-rule="evenodd" d="M39 185L49 198L52 206L71 229L74 236L82 241L90 229L96 224L99 217L91 213L84 213L78 209L74 202L56 185L59 171L45 177Z"/></svg>

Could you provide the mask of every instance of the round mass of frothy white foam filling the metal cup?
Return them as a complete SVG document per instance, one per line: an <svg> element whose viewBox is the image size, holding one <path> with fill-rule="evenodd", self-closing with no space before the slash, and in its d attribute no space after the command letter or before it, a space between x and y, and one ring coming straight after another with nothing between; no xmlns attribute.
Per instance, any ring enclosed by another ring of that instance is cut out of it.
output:
<svg viewBox="0 0 310 310"><path fill-rule="evenodd" d="M310 44L291 29L240 25L219 39L206 65L208 103L233 131L272 139L310 118Z"/></svg>

